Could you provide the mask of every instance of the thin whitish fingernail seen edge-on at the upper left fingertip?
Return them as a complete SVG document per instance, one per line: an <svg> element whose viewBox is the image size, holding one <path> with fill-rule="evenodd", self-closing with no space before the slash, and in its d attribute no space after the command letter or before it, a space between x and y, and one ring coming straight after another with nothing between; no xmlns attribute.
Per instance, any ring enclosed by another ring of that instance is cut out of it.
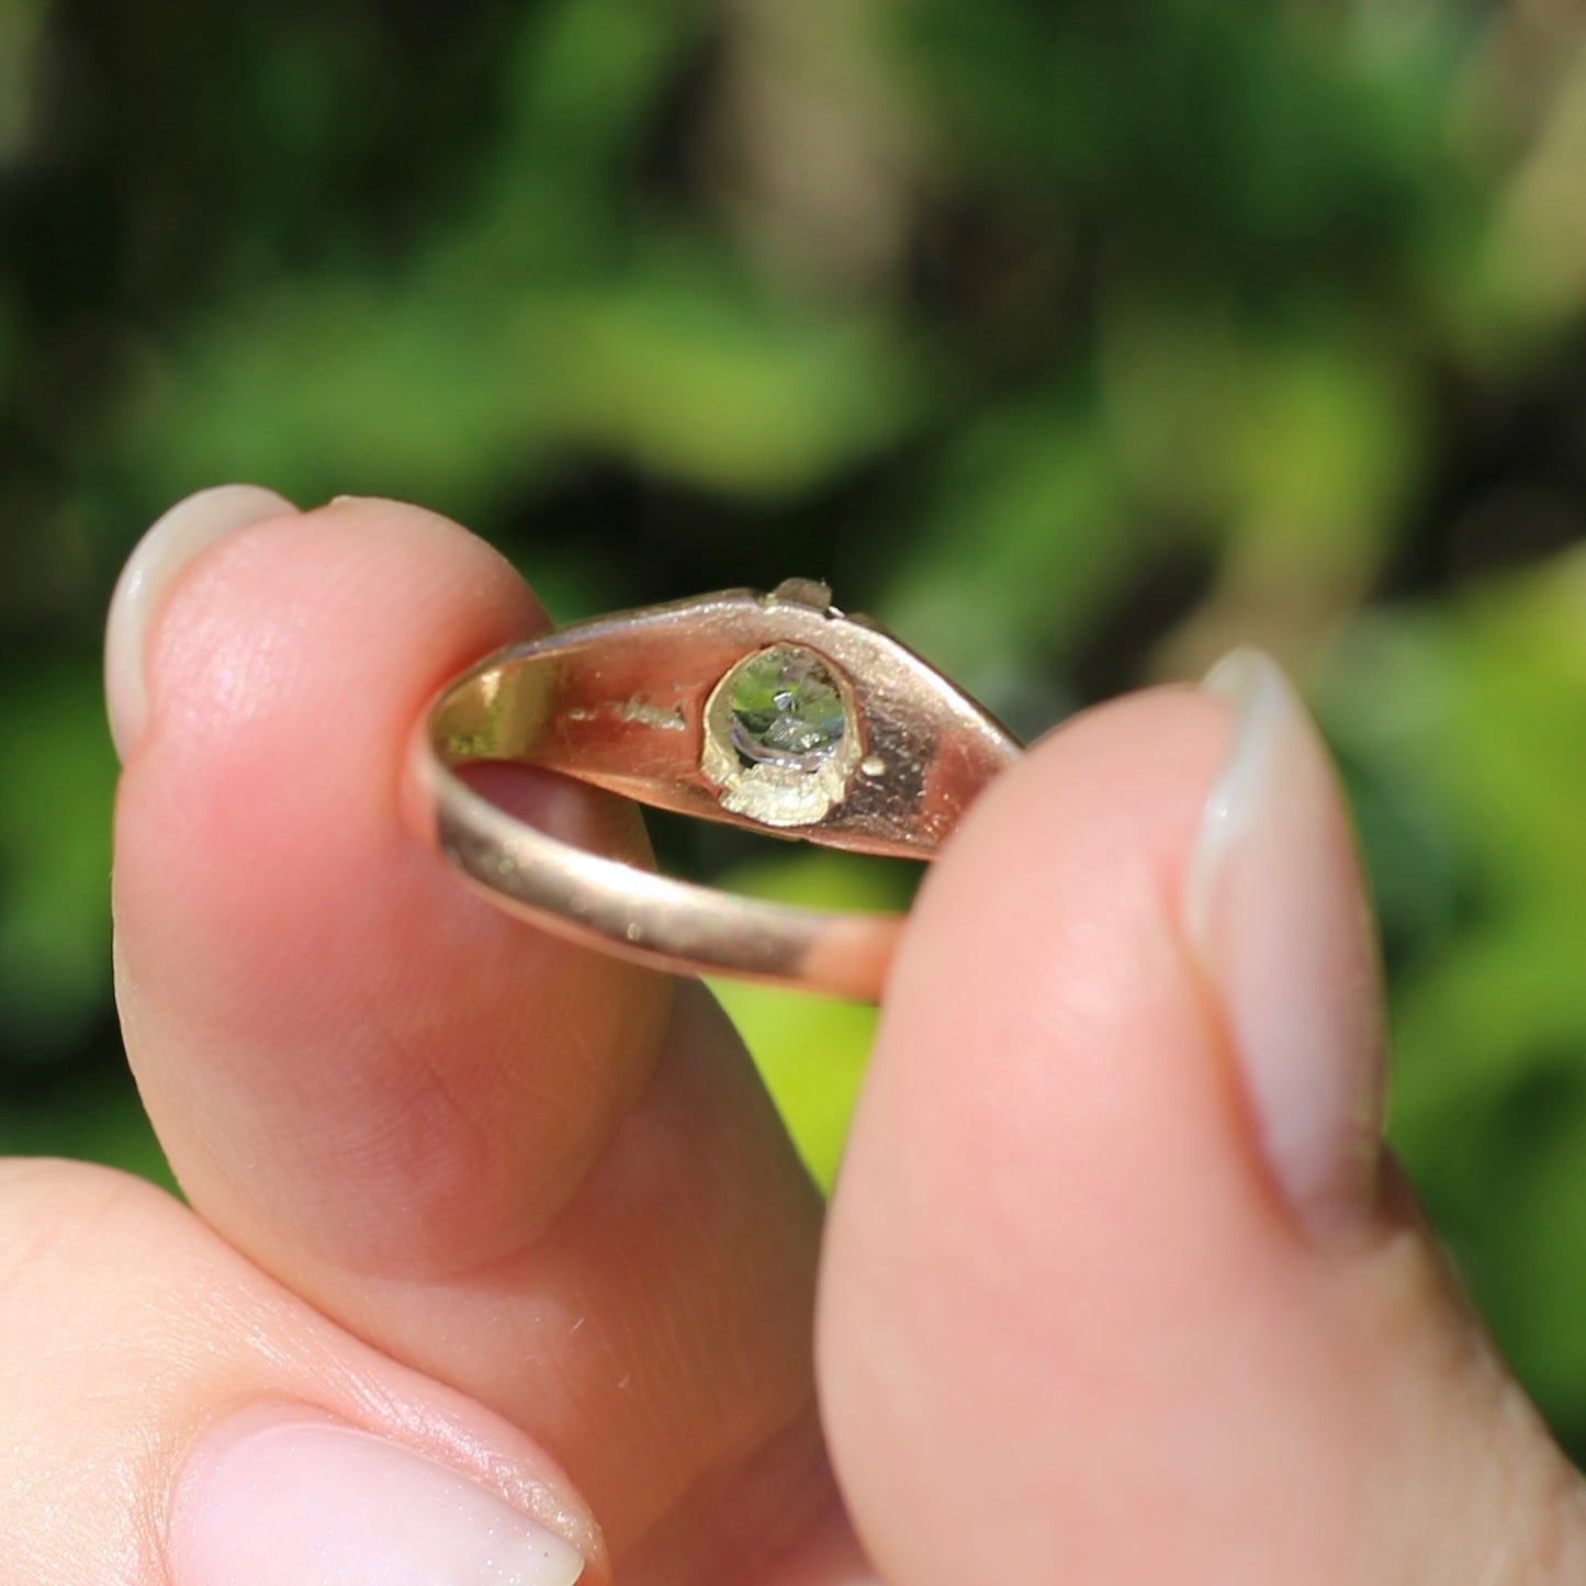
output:
<svg viewBox="0 0 1586 1586"><path fill-rule="evenodd" d="M127 558L116 580L105 626L105 707L109 734L122 760L149 715L143 647L165 592L206 546L297 508L259 485L216 485L178 501Z"/></svg>

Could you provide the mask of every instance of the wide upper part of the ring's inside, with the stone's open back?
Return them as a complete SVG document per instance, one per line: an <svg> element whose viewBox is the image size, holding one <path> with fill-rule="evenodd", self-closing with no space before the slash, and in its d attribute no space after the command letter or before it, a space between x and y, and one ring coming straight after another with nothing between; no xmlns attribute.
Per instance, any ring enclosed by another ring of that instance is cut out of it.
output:
<svg viewBox="0 0 1586 1586"><path fill-rule="evenodd" d="M906 858L928 858L1018 752L887 634L747 590L492 657L442 696L431 742L447 766L538 764L658 809Z"/></svg>

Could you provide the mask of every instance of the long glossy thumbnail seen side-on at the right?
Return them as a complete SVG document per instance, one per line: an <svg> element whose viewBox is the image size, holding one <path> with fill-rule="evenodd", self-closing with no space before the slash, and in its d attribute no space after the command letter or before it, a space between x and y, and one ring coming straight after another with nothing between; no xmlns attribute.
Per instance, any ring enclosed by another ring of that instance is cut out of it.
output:
<svg viewBox="0 0 1586 1586"><path fill-rule="evenodd" d="M1272 1175L1312 1232L1359 1229L1381 1158L1385 1032L1370 902L1339 779L1293 684L1235 650L1201 685L1234 711L1185 915Z"/></svg>

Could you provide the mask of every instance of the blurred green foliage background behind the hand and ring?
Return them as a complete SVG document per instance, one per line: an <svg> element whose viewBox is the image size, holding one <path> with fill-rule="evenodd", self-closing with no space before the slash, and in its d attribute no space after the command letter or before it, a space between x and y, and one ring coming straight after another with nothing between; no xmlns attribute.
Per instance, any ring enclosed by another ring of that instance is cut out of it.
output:
<svg viewBox="0 0 1586 1586"><path fill-rule="evenodd" d="M0 0L0 1150L165 1175L98 641L233 479L422 501L560 619L825 577L1025 734L1275 650L1394 1144L1586 1453L1580 0ZM723 996L829 1178L872 1015Z"/></svg>

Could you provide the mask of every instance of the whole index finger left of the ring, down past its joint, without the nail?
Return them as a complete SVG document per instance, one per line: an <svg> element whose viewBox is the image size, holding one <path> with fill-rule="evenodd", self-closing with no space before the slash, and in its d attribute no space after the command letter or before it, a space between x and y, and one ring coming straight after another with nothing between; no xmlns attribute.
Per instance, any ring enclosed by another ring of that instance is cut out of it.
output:
<svg viewBox="0 0 1586 1586"><path fill-rule="evenodd" d="M620 1565L698 1578L829 1502L820 1205L707 996L506 918L403 818L430 696L542 620L395 503L179 576L117 810L127 1042L195 1209L528 1429ZM500 769L527 818L642 858L630 806Z"/></svg>

